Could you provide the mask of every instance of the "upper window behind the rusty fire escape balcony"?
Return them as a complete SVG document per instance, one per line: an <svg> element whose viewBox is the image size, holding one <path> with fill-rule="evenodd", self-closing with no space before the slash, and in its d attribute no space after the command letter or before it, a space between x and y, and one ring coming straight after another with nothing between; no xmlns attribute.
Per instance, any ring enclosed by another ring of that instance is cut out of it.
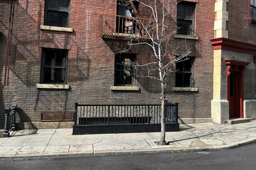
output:
<svg viewBox="0 0 256 170"><path fill-rule="evenodd" d="M138 2L134 2L133 4L138 11ZM116 6L116 33L137 33L136 21L133 20L132 17L136 17L133 9L129 8L130 5L126 5L126 1L117 1Z"/></svg>

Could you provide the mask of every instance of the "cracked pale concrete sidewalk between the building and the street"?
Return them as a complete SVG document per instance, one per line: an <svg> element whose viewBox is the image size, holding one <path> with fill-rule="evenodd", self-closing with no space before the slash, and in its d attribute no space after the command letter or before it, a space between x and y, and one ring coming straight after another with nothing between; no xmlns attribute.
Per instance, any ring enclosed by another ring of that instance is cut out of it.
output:
<svg viewBox="0 0 256 170"><path fill-rule="evenodd" d="M0 159L26 160L229 149L256 141L256 121L235 125L182 124L167 132L170 145L158 146L160 132L72 135L72 129L20 130L0 139Z"/></svg>

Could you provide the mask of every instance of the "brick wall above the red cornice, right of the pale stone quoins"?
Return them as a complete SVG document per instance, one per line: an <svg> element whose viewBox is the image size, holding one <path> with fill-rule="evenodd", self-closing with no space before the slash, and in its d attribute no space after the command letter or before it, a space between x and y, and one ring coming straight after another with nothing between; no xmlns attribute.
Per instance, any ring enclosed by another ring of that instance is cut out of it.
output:
<svg viewBox="0 0 256 170"><path fill-rule="evenodd" d="M249 23L249 0L232 0L227 3L228 38L256 44L256 23Z"/></svg>

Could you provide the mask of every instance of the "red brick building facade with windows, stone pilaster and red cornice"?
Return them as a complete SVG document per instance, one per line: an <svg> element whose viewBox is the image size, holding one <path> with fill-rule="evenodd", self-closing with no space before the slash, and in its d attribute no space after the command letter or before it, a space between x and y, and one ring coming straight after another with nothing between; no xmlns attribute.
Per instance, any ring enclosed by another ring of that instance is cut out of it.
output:
<svg viewBox="0 0 256 170"><path fill-rule="evenodd" d="M4 107L12 104L18 105L20 128L71 127L71 121L55 120L70 119L75 102L160 104L157 81L134 76L128 66L124 76L116 66L124 59L145 63L151 55L146 45L116 54L128 48L127 34L139 34L126 19L132 15L126 6L117 0L16 0L10 66L6 67L11 2L0 0L1 128ZM140 17L149 18L147 8L136 2L134 8ZM191 51L190 59L170 74L166 90L167 100L180 103L181 122L224 123L231 117L228 101L239 98L244 98L240 107L233 105L240 115L233 111L232 116L256 117L254 10L252 0L183 0L168 16L170 30L180 27L170 48L186 39ZM178 53L184 50L181 45ZM231 87L240 90L237 98L227 97L227 65L234 68L233 81L243 80L243 86ZM51 120L42 121L42 114L52 114Z"/></svg>

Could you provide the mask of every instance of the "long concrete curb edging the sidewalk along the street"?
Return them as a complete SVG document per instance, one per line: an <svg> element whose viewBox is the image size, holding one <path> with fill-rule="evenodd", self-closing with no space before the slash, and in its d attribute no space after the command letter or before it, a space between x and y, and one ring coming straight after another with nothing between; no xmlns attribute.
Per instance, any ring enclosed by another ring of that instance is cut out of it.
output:
<svg viewBox="0 0 256 170"><path fill-rule="evenodd" d="M36 159L55 159L55 158L76 158L76 157L88 157L88 156L108 156L108 155L122 155L122 154L149 154L149 153L166 153L166 152L200 152L200 151L213 151L213 150L226 150L235 147L240 147L250 143L255 143L256 137L249 139L243 139L239 143L233 143L230 145L222 145L216 147L180 147L180 148L159 148L159 149L132 149L132 150L96 150L96 151L84 151L84 152L65 152L60 154L2 154L0 160L36 160Z"/></svg>

